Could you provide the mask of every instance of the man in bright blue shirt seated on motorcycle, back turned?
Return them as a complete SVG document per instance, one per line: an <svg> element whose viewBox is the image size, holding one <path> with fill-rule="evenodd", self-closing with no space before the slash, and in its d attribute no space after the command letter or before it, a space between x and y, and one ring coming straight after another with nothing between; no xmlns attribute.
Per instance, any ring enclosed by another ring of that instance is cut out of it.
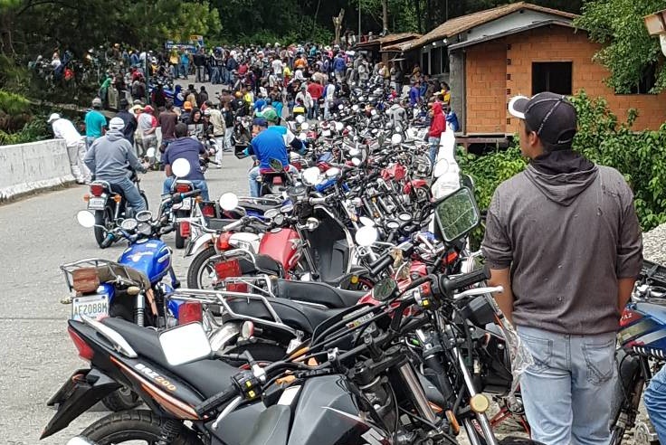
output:
<svg viewBox="0 0 666 445"><path fill-rule="evenodd" d="M249 173L252 197L259 197L262 193L262 186L257 181L262 171L275 170L271 160L275 165L279 161L283 169L296 173L296 169L289 163L287 145L302 150L302 142L288 128L275 125L278 120L275 110L268 109L252 121L252 141L245 148L245 155L257 156L259 161L259 165L252 167Z"/></svg>

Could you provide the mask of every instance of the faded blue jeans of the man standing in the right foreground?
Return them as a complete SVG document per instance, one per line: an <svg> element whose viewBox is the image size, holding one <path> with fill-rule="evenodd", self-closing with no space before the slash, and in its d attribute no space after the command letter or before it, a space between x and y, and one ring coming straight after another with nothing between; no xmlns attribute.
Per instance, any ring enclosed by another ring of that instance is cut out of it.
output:
<svg viewBox="0 0 666 445"><path fill-rule="evenodd" d="M532 440L606 445L615 391L615 333L595 336L517 328L534 365L520 376Z"/></svg>

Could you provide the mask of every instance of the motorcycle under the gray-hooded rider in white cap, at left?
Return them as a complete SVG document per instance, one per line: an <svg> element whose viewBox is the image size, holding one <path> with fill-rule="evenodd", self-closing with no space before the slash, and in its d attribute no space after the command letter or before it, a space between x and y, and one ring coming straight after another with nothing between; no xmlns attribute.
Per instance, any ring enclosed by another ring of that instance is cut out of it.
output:
<svg viewBox="0 0 666 445"><path fill-rule="evenodd" d="M148 207L146 194L140 187L140 179L137 172L132 171L130 179L137 186L138 193ZM90 183L90 194L85 194L83 200L88 203L88 210L95 214L95 240L101 249L109 247L104 245L106 232L119 226L125 218L133 215L131 207L122 189L118 185L112 185L107 181L92 181Z"/></svg>

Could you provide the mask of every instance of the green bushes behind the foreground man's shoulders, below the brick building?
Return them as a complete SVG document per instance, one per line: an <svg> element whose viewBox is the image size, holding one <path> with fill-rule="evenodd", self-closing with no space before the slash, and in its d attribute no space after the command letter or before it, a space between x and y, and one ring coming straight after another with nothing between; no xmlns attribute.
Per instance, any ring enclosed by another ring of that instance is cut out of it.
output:
<svg viewBox="0 0 666 445"><path fill-rule="evenodd" d="M631 128L635 110L630 110L627 122L618 125L605 99L590 99L581 91L572 101L578 115L574 148L596 164L612 166L624 175L633 189L644 231L666 223L666 124L658 131L635 132ZM483 156L459 152L461 171L474 178L481 209L488 208L502 181L527 166L518 144L517 136L514 146L504 151Z"/></svg>

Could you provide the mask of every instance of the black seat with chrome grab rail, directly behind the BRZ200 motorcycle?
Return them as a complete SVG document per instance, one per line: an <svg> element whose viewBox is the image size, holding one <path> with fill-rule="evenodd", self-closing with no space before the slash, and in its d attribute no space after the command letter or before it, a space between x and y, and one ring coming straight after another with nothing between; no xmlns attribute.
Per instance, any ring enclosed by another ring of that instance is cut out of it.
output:
<svg viewBox="0 0 666 445"><path fill-rule="evenodd" d="M246 316L263 318L266 320L273 320L268 308L264 306L262 301L248 300L246 298L228 298L227 304L232 310L238 314ZM271 307L278 314L282 323L285 325L299 329L309 336L314 332L315 327L318 327L329 317L335 317L338 314L347 311L347 308L342 309L319 309L311 308L288 299L271 298Z"/></svg>

